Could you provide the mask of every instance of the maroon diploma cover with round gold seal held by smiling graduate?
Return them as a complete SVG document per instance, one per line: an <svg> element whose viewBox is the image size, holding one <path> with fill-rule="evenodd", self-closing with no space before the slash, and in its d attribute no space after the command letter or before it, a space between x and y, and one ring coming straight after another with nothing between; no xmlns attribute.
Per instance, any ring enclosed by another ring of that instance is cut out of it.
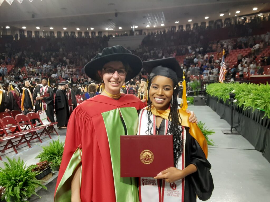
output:
<svg viewBox="0 0 270 202"><path fill-rule="evenodd" d="M121 135L121 177L154 177L174 167L173 135Z"/></svg>

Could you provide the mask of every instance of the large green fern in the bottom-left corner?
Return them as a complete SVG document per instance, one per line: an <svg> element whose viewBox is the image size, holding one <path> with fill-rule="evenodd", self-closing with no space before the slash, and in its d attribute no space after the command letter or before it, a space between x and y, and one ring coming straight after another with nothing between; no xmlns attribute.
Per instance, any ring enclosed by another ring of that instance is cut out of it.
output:
<svg viewBox="0 0 270 202"><path fill-rule="evenodd" d="M15 202L26 201L33 194L38 196L35 191L36 187L41 186L47 189L41 184L41 181L36 179L36 172L32 172L36 165L26 166L20 158L18 161L6 158L8 162L3 162L4 168L0 168L0 186L5 188L2 199L7 202L11 200Z"/></svg>

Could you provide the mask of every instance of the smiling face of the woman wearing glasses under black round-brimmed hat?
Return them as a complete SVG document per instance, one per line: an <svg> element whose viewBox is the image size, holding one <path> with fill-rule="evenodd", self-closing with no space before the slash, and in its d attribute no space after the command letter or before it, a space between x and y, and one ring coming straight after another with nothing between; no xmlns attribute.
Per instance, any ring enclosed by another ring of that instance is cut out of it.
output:
<svg viewBox="0 0 270 202"><path fill-rule="evenodd" d="M109 74L106 73L106 69L114 69L115 72L113 74ZM125 67L121 61L111 61L103 66L102 71L98 71L100 77L103 78L105 90L108 93L117 95L120 92L120 88L122 88L126 79L126 73L119 74L118 71L123 73L123 69L125 69Z"/></svg>

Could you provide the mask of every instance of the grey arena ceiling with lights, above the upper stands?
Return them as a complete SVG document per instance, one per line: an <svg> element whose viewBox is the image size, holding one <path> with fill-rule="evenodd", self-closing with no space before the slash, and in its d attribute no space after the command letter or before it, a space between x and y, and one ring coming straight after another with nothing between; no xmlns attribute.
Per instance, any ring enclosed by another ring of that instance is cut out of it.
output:
<svg viewBox="0 0 270 202"><path fill-rule="evenodd" d="M0 0L1 1L1 0ZM3 0L2 0L3 1ZM256 11L252 9L257 7ZM149 29L244 16L270 10L269 0L14 0L0 6L0 26L26 30L94 31ZM117 14L116 14L117 13ZM224 16L220 17L220 13ZM117 16L116 16L117 15ZM205 20L205 17L209 18ZM192 22L188 22L192 19ZM175 23L175 22L179 23Z"/></svg>

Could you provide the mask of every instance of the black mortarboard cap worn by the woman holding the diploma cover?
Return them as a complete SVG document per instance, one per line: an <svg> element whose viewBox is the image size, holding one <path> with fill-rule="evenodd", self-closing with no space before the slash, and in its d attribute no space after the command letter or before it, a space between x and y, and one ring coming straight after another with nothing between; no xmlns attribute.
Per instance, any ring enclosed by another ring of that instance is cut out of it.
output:
<svg viewBox="0 0 270 202"><path fill-rule="evenodd" d="M166 76L177 84L183 81L183 70L174 57L143 62L143 68L150 74L150 78L159 75Z"/></svg>

